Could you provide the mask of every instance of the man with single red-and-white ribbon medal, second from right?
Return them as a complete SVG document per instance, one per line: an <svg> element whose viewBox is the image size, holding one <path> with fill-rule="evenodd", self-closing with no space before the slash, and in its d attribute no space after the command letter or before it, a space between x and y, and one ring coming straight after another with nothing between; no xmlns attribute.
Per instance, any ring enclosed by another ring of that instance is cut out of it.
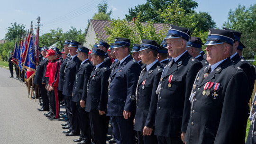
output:
<svg viewBox="0 0 256 144"><path fill-rule="evenodd" d="M156 90L158 105L155 117L155 135L158 144L183 144L188 125L189 96L193 81L202 64L187 51L190 30L171 25L165 37L172 61L167 64Z"/></svg>

